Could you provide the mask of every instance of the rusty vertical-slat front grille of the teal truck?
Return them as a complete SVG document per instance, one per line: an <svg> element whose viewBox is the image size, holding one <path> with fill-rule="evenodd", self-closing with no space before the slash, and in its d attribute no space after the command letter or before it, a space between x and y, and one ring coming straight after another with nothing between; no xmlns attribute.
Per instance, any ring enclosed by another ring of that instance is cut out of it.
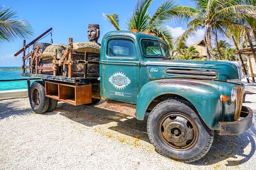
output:
<svg viewBox="0 0 256 170"><path fill-rule="evenodd" d="M235 120L239 120L241 111L242 111L242 104L243 104L243 97L244 97L244 88L243 87L236 87L236 109L235 109Z"/></svg>

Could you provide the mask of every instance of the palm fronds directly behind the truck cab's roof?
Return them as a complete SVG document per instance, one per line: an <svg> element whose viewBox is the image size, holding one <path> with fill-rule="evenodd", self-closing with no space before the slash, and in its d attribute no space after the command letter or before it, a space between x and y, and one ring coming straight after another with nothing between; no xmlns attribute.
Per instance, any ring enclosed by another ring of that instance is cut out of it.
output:
<svg viewBox="0 0 256 170"><path fill-rule="evenodd" d="M148 8L152 4L153 0L138 0L135 10L132 13L131 18L128 20L128 29L137 29L138 31L150 31L155 33L164 39L168 44L169 49L173 49L173 38L169 27L164 26L164 23L177 15L175 10L173 10L177 4L173 0L164 1L161 6L159 6L156 12L150 17L148 13ZM103 14L106 19L115 27L116 30L120 30L118 26L118 15L106 15Z"/></svg>

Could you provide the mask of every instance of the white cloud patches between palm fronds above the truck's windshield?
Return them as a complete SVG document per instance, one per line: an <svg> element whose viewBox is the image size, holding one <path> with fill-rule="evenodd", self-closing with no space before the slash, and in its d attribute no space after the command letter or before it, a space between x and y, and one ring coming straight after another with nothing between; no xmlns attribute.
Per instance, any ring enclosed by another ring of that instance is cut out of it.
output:
<svg viewBox="0 0 256 170"><path fill-rule="evenodd" d="M182 27L170 27L170 26L168 27L170 31L172 31L173 40L175 40L178 36L182 35L182 33L186 31ZM203 39L204 39L204 29L199 29L198 31L196 31L196 34L194 36L191 36L188 38L188 40L186 41L186 44L189 46Z"/></svg>

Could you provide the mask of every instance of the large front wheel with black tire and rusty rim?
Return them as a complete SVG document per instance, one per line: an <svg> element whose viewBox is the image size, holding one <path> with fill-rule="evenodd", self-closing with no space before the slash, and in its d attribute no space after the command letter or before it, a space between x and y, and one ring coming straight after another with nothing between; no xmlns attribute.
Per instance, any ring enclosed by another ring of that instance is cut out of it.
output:
<svg viewBox="0 0 256 170"><path fill-rule="evenodd" d="M181 162L204 157L214 139L214 131L184 100L169 99L157 104L148 116L147 131L157 152Z"/></svg>

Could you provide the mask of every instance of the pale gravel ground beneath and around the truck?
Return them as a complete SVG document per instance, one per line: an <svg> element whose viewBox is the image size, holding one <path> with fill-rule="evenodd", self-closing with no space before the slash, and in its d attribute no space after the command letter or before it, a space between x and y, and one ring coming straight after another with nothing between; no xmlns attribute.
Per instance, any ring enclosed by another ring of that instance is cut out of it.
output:
<svg viewBox="0 0 256 170"><path fill-rule="evenodd" d="M256 93L256 84L246 89ZM246 95L253 113L255 103L256 95ZM28 98L0 99L0 169L254 169L255 117L244 134L215 134L209 153L185 164L154 151L146 121L63 103L34 114Z"/></svg>

